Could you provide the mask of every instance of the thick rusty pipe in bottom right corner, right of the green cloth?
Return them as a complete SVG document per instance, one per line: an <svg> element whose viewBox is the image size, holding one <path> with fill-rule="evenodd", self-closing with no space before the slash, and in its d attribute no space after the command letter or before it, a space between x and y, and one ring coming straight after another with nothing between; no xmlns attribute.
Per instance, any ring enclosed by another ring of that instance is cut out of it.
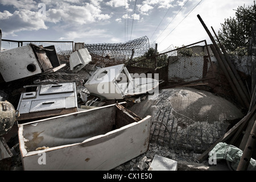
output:
<svg viewBox="0 0 256 182"><path fill-rule="evenodd" d="M256 147L256 121L254 122L253 129L251 129L250 137L247 140L245 150L237 167L237 171L246 171L253 156Z"/></svg>

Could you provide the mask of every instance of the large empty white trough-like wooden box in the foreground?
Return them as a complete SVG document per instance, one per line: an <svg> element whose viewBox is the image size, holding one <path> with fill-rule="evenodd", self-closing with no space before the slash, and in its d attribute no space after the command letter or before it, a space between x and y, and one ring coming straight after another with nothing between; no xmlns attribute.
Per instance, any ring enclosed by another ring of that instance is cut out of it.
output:
<svg viewBox="0 0 256 182"><path fill-rule="evenodd" d="M24 170L110 170L146 152L151 116L121 104L20 124Z"/></svg>

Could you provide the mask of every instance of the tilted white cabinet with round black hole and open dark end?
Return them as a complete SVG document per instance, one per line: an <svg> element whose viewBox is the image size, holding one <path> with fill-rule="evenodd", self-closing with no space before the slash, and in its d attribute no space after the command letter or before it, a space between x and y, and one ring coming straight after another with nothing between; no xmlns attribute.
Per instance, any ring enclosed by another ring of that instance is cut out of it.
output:
<svg viewBox="0 0 256 182"><path fill-rule="evenodd" d="M35 44L1 51L0 72L6 82L44 72L56 72L60 64L54 46L40 47Z"/></svg>

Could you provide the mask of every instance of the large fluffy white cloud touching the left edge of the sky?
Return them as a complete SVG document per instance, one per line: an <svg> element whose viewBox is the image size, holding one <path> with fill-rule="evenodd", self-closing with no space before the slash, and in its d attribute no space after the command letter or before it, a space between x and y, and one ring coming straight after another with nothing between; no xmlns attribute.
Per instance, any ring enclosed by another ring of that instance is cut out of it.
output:
<svg viewBox="0 0 256 182"><path fill-rule="evenodd" d="M13 14L9 11L0 12L0 24L6 35L15 35L15 32L23 30L47 29L44 17L30 10L14 11Z"/></svg>

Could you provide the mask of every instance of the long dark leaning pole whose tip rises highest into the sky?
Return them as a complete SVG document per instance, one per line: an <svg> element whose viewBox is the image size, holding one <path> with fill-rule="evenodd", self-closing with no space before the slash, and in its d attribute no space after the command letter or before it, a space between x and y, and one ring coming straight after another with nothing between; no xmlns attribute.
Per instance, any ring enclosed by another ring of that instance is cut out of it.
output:
<svg viewBox="0 0 256 182"><path fill-rule="evenodd" d="M241 89L241 86L238 84L237 82L237 79L236 77L234 77L233 75L233 72L231 71L230 67L228 66L228 64L226 63L226 59L224 57L224 55L222 55L221 51L220 51L220 48L218 48L218 45L216 43L216 41L214 40L212 34L210 34L210 31L208 30L207 26L205 25L203 19L201 19L201 16L200 15L197 15L197 18L199 18L201 24L203 25L203 27L205 28L205 31L207 31L207 34L209 35L209 38L210 40L212 40L212 43L216 49L216 51L218 52L218 55L220 56L221 60L222 60L222 63L224 64L224 69L225 69L225 73L227 72L228 75L226 75L226 77L230 77L229 80L230 80L230 85L232 85L232 83L234 84L234 86L232 86L232 88L236 88L237 89L237 92L239 93L239 95L241 96L242 98L242 102L244 103L245 107L248 109L250 104L249 102L247 101L247 97L245 96L245 94L243 93L242 89ZM235 89L234 89L235 90ZM233 91L234 91L233 90ZM235 91L234 91L235 92Z"/></svg>

